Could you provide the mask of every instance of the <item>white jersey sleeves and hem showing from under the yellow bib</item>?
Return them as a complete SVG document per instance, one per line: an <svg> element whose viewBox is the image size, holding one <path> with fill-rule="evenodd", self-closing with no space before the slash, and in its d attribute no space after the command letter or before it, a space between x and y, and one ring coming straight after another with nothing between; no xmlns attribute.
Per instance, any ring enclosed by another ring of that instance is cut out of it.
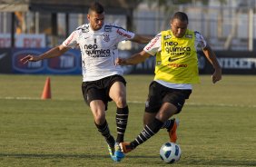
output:
<svg viewBox="0 0 256 167"><path fill-rule="evenodd" d="M195 34L195 48L198 47L206 47L207 43L205 39L203 38L202 34L199 32L194 32ZM158 52L161 52L162 46L161 46L161 41L162 41L162 34L157 34L149 44L147 44L144 47L144 51L148 54L154 55ZM156 80L157 83L161 83L162 85L172 88L172 89L191 89L192 90L192 84L190 83L170 83L170 82L165 82L162 80Z"/></svg>

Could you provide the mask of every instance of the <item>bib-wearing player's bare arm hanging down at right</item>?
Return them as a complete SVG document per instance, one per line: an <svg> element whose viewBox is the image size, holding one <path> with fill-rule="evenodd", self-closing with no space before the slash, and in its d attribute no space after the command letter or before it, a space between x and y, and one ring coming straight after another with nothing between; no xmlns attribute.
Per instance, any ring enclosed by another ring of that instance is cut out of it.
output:
<svg viewBox="0 0 256 167"><path fill-rule="evenodd" d="M216 55L212 51L210 45L207 45L205 48L203 48L202 52L215 69L215 72L212 74L212 83L216 83L222 80L222 67L219 64Z"/></svg>

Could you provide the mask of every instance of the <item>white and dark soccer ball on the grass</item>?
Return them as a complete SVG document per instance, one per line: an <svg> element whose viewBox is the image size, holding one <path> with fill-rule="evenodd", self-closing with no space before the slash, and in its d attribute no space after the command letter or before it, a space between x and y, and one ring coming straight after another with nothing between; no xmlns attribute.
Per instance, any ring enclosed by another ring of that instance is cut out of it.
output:
<svg viewBox="0 0 256 167"><path fill-rule="evenodd" d="M160 158L163 162L173 163L178 162L181 158L182 150L177 143L166 142L162 144L160 149Z"/></svg>

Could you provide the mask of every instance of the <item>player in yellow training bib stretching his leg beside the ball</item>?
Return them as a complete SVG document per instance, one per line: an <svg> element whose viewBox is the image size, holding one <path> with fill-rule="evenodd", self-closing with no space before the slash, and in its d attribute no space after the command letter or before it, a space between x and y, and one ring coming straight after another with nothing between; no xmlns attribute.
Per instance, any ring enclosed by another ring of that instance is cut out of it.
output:
<svg viewBox="0 0 256 167"><path fill-rule="evenodd" d="M215 72L212 83L222 79L222 68L206 43L202 34L187 29L188 16L177 12L172 16L171 29L157 34L143 51L133 54L127 59L116 59L116 65L139 64L151 55L155 55L155 76L150 84L145 113L143 131L133 142L122 142L124 153L131 152L135 147L151 138L161 128L169 132L170 141L176 142L178 119L169 119L180 113L185 100L192 93L192 83L199 83L197 48L202 47L208 61Z"/></svg>

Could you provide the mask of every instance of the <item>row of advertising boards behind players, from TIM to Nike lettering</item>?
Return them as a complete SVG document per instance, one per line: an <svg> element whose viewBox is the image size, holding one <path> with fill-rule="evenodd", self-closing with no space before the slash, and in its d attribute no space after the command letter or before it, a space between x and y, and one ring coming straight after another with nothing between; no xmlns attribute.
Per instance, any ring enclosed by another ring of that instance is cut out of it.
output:
<svg viewBox="0 0 256 167"><path fill-rule="evenodd" d="M22 64L20 59L27 54L39 55L48 51L42 49L1 49L0 73L14 74L82 74L82 60L79 50L72 49L65 54L44 61ZM119 57L127 58L137 53L135 50L119 51ZM216 51L222 66L222 74L256 74L256 56L254 52ZM148 58L142 64L123 66L124 74L153 74L155 57ZM202 52L198 52L200 74L212 74L212 64Z"/></svg>

